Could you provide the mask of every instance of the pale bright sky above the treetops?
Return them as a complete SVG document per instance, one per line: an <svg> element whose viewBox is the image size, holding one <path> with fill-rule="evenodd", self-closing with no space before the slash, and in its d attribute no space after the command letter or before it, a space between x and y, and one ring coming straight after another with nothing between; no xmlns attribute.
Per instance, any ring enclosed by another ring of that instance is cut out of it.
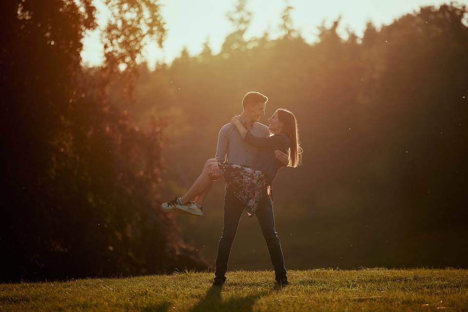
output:
<svg viewBox="0 0 468 312"><path fill-rule="evenodd" d="M418 10L420 6L439 6L447 0L290 0L293 7L292 23L307 42L317 40L317 27L325 22L330 27L333 20L341 16L339 34L346 38L347 29L362 37L367 21L377 28L390 24L400 16ZM102 28L107 20L107 12L102 0L94 0L98 9L98 24ZM166 23L167 38L163 47L150 42L144 49L144 57L149 67L156 62L171 63L186 47L190 55L197 55L208 41L214 54L217 54L226 35L234 30L226 17L234 9L237 0L160 0L161 14ZM468 4L468 0L458 0ZM252 12L251 24L246 38L260 37L265 31L271 38L278 36L281 12L285 0L248 0L247 9ZM103 49L99 42L99 32L88 32L83 39L82 62L87 66L97 66L103 60Z"/></svg>

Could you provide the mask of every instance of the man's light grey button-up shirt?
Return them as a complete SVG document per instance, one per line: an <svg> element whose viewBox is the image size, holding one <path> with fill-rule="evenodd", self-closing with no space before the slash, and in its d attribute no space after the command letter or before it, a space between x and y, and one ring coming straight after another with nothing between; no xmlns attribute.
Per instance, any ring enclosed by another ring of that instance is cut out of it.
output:
<svg viewBox="0 0 468 312"><path fill-rule="evenodd" d="M242 121L245 122L245 120ZM259 122L254 122L252 128L248 130L256 137L270 137L268 127ZM227 160L236 165L252 167L258 153L259 149L245 142L231 122L219 130L216 159L221 161Z"/></svg>

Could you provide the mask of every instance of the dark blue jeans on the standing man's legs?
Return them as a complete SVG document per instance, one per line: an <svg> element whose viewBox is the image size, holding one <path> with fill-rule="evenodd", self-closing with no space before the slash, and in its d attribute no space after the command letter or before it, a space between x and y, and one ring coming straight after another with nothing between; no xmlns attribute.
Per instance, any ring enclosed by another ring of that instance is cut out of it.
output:
<svg viewBox="0 0 468 312"><path fill-rule="evenodd" d="M226 271L228 270L229 254L233 247L234 237L239 225L239 219L244 212L243 205L234 195L231 190L226 190L224 195L224 228L221 239L219 239L218 254L216 255L216 271L215 278L224 281ZM275 279L286 279L286 268L284 267L283 251L278 234L274 228L273 203L270 197L265 196L257 210L255 211L258 223L262 229L263 237L265 238L270 252L270 258L273 263Z"/></svg>

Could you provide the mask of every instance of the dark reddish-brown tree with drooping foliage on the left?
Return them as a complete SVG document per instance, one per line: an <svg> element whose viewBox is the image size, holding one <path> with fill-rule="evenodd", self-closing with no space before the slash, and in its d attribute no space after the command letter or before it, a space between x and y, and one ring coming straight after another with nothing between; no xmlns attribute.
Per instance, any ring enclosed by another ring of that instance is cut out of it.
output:
<svg viewBox="0 0 468 312"><path fill-rule="evenodd" d="M142 131L105 92L117 66L135 68L148 36L162 40L159 7L107 1L107 62L91 75L82 72L80 52L96 10L91 0L77 3L0 4L7 34L0 49L0 249L7 255L0 279L204 268L158 209L165 121Z"/></svg>

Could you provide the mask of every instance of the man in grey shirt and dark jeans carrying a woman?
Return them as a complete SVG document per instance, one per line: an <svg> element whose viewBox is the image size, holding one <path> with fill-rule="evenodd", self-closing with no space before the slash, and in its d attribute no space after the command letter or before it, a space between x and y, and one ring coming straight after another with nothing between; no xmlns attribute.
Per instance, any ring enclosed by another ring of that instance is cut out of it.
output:
<svg viewBox="0 0 468 312"><path fill-rule="evenodd" d="M249 92L242 100L244 109L241 115L242 123L257 137L270 136L268 127L258 122L261 117L265 116L267 101L268 98L258 92ZM252 166L257 153L257 148L244 142L232 123L223 126L219 131L215 156L217 160L227 160L237 165ZM275 151L274 153L276 158L285 166L288 164L288 154L281 151ZM211 169L214 176L220 176L218 163L213 163ZM229 255L244 208L244 205L235 197L234 190L227 184L224 197L224 228L216 255L215 280L213 281L213 285L215 286L221 286L226 281L225 274L228 270ZM255 215L260 223L268 246L275 272L275 280L280 286L287 285L288 279L284 266L283 252L274 226L273 202L269 196L265 196L260 202Z"/></svg>

